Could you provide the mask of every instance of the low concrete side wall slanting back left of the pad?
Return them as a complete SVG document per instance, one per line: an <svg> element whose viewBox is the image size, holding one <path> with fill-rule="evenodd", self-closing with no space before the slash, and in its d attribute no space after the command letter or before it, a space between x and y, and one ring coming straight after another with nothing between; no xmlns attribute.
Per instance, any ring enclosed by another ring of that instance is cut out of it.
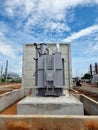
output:
<svg viewBox="0 0 98 130"><path fill-rule="evenodd" d="M16 89L0 95L0 112L24 97L24 89Z"/></svg>

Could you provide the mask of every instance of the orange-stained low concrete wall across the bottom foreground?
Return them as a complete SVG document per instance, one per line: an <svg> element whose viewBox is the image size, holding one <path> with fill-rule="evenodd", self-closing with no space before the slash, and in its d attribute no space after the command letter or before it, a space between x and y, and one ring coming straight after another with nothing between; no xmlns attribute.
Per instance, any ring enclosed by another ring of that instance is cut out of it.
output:
<svg viewBox="0 0 98 130"><path fill-rule="evenodd" d="M0 116L0 130L98 130L98 117Z"/></svg>

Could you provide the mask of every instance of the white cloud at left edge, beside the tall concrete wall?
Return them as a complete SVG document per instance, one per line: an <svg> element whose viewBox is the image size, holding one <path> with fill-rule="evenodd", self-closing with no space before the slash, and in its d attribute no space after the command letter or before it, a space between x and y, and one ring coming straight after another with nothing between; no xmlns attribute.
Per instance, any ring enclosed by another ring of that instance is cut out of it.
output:
<svg viewBox="0 0 98 130"><path fill-rule="evenodd" d="M6 26L1 26L1 30L0 30L1 31L0 32L0 54L15 59L17 53L21 52L22 49L20 45L18 45L17 43L14 44L14 41L11 41L10 39L8 39L8 37L6 37L7 27L6 28L5 27Z"/></svg>

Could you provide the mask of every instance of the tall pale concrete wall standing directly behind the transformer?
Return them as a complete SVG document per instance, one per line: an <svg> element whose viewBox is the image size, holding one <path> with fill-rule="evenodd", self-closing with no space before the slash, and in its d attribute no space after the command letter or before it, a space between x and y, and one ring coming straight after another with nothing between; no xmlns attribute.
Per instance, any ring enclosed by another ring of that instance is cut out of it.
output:
<svg viewBox="0 0 98 130"><path fill-rule="evenodd" d="M56 44L48 44L50 51L55 52ZM64 58L65 68L65 88L71 87L72 70L71 70L71 47L70 44L60 44L62 57ZM33 44L24 45L23 54L23 71L22 71L22 86L24 88L35 87L35 47Z"/></svg>

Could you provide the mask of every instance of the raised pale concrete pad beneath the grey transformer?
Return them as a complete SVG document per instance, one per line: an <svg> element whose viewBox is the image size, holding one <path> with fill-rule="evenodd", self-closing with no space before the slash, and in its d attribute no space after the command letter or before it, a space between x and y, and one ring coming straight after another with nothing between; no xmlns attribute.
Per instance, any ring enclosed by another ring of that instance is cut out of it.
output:
<svg viewBox="0 0 98 130"><path fill-rule="evenodd" d="M17 104L17 114L27 115L83 115L83 104L74 96L29 96Z"/></svg>

